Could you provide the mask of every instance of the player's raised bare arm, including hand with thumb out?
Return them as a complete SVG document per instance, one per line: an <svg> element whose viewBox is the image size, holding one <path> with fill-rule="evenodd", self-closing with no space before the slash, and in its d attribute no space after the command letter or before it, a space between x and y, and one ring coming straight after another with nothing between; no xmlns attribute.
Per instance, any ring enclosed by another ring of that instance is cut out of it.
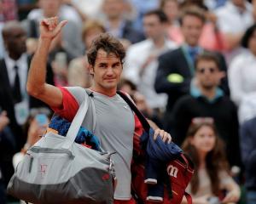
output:
<svg viewBox="0 0 256 204"><path fill-rule="evenodd" d="M54 108L61 108L62 94L59 88L45 82L46 63L50 43L61 32L61 28L66 23L67 21L58 23L56 17L41 21L38 49L33 56L26 83L28 94Z"/></svg>

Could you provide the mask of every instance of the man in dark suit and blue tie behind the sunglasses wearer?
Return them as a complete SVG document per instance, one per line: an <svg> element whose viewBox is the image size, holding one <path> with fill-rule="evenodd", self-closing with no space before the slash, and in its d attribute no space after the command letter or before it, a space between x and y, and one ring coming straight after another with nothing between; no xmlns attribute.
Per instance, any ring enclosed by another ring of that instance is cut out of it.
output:
<svg viewBox="0 0 256 204"><path fill-rule="evenodd" d="M166 114L163 118L164 128L172 133L172 109L177 99L189 94L191 79L195 76L195 58L198 54L207 52L199 45L201 32L206 23L205 11L196 6L183 8L180 14L180 28L183 34L183 44L159 57L158 70L154 81L156 93L168 95ZM224 56L215 52L219 59L219 68L227 70ZM227 77L224 77L219 87L229 94Z"/></svg>

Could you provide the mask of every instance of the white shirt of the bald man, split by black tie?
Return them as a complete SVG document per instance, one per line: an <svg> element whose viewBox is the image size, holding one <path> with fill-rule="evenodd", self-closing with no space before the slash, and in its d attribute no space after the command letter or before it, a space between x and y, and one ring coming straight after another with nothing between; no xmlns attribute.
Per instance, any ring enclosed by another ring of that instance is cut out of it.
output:
<svg viewBox="0 0 256 204"><path fill-rule="evenodd" d="M27 77L27 55L22 54L20 56L20 59L14 60L9 57L8 54L5 55L4 57L5 64L7 66L7 72L8 72L8 77L9 77L9 83L11 87L14 86L15 84L15 65L18 66L18 73L20 77L20 91L22 96L26 93L26 77Z"/></svg>

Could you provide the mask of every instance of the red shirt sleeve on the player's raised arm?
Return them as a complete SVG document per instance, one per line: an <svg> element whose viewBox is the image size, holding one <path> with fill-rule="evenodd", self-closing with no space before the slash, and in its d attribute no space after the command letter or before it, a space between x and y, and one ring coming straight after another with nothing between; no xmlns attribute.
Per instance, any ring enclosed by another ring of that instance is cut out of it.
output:
<svg viewBox="0 0 256 204"><path fill-rule="evenodd" d="M74 116L79 110L79 103L73 97L72 94L67 90L67 88L59 87L62 93L62 106L61 108L51 107L55 113L61 117L64 117L67 121L72 122Z"/></svg>

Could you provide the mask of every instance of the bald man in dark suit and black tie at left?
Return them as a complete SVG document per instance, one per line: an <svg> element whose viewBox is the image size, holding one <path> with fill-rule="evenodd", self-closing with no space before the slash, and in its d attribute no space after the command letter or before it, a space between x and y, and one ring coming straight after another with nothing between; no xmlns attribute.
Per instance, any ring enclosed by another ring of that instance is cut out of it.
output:
<svg viewBox="0 0 256 204"><path fill-rule="evenodd" d="M31 56L26 54L26 31L17 21L3 26L5 55L0 59L0 106L7 111L10 127L15 133L16 150L26 141L21 126L31 108L45 107L44 103L26 94L26 78ZM53 72L48 65L47 81L53 84Z"/></svg>

